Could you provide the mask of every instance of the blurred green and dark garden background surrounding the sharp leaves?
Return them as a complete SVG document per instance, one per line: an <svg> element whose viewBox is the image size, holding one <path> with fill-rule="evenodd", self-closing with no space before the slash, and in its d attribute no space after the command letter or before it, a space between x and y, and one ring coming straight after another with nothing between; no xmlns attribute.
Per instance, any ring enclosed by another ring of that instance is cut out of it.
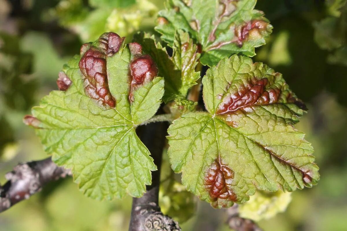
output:
<svg viewBox="0 0 347 231"><path fill-rule="evenodd" d="M0 0L1 183L18 162L46 157L22 118L57 89L58 72L69 57L105 31L128 36L128 41L138 30L154 33L162 8L162 0ZM321 169L317 186L292 193L285 212L259 225L266 231L346 231L346 0L260 0L256 9L265 12L274 29L254 60L283 73L307 103L309 111L296 127L312 142ZM166 153L163 168L169 169L165 160ZM172 175L166 172L161 206L184 231L228 230L225 210L197 201L179 183L168 181ZM130 208L131 198L94 201L72 179L61 179L1 213L0 230L122 231L128 229Z"/></svg>

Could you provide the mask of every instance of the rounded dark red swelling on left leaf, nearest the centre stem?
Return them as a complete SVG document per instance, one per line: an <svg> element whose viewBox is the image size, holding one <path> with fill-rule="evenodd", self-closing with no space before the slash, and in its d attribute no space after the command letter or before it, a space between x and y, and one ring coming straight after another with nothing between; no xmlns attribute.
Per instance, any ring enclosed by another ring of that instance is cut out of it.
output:
<svg viewBox="0 0 347 231"><path fill-rule="evenodd" d="M142 49L141 49L142 50ZM143 86L145 83L150 82L158 75L158 68L156 67L153 59L149 55L135 54L134 59L130 62L130 94L129 101L134 101L133 92Z"/></svg>

